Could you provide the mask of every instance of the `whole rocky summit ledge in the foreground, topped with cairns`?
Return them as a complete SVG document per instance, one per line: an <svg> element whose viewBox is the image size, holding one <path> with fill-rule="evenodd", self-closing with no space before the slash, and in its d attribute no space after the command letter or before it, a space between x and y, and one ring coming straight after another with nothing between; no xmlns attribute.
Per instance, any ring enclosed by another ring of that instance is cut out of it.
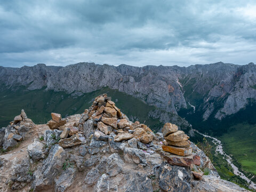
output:
<svg viewBox="0 0 256 192"><path fill-rule="evenodd" d="M165 140L173 127L182 141ZM129 121L106 94L82 115L52 113L43 125L22 110L0 130L0 191L247 191L221 180L175 125L163 130L164 136Z"/></svg>

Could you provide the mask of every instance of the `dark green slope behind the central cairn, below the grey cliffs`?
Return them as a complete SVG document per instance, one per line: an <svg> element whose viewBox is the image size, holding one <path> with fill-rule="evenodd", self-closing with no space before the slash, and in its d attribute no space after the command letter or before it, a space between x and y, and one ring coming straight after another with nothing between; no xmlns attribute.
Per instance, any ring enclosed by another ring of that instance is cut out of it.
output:
<svg viewBox="0 0 256 192"><path fill-rule="evenodd" d="M135 99L131 95L111 90L108 87L85 93L77 98L73 98L65 92L44 91L44 89L27 91L25 87L13 92L2 87L0 92L0 126L7 126L15 115L20 114L21 109L24 109L28 117L35 123L49 121L51 112L60 113L63 117L83 113L85 108L91 106L93 99L102 93L108 93L113 101L117 99L116 106L121 108L127 116L137 117L140 122L145 122L151 129L162 126L161 123L159 124L159 119L148 117L148 112L155 107L148 106L140 99Z"/></svg>

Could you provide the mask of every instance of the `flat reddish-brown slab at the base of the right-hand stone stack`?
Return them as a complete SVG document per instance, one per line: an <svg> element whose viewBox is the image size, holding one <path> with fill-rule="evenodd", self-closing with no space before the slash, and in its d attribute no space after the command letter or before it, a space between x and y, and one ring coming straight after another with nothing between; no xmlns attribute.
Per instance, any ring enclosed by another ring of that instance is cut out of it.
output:
<svg viewBox="0 0 256 192"><path fill-rule="evenodd" d="M165 151L160 151L159 154L165 161L171 165L178 165L178 166L190 166L190 165L198 165L198 155L188 155L186 157L182 157L179 155L173 155ZM200 161L199 161L200 162Z"/></svg>

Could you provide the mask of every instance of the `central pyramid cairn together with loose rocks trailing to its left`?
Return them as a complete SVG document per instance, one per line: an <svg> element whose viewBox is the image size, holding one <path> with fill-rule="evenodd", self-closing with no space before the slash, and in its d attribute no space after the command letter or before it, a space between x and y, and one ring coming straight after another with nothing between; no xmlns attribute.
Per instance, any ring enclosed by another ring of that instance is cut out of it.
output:
<svg viewBox="0 0 256 192"><path fill-rule="evenodd" d="M138 121L134 123L129 121L107 94L96 97L92 106L85 109L79 122L73 125L67 126L67 119L61 118L60 114L51 113L51 115L52 119L47 125L54 132L46 131L45 140L55 134L55 141L58 140L58 144L63 148L79 145L83 139L108 141L111 133L115 135L115 142L132 138L145 144L153 141L153 131ZM49 144L53 144L54 140L51 142L49 140Z"/></svg>

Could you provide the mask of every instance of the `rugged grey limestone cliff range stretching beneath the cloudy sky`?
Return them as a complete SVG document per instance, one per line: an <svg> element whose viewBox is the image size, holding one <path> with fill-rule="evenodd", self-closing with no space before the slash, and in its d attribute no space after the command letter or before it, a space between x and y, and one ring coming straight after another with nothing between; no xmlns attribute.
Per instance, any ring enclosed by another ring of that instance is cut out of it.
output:
<svg viewBox="0 0 256 192"><path fill-rule="evenodd" d="M177 114L181 108L195 106L203 119L214 115L222 119L244 108L256 98L256 67L229 63L210 65L145 66L95 65L77 63L66 67L38 64L34 67L0 67L0 83L8 87L91 92L109 86L140 98L149 105ZM202 102L196 102L197 100Z"/></svg>

